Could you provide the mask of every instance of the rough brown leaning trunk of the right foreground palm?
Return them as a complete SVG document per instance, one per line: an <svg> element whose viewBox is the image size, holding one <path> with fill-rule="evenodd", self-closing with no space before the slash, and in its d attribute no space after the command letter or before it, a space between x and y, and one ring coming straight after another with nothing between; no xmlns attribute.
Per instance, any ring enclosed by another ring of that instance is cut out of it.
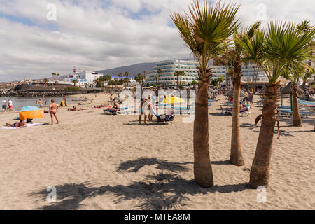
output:
<svg viewBox="0 0 315 224"><path fill-rule="evenodd" d="M270 159L272 155L274 125L276 122L278 122L279 127L279 120L276 118L276 102L279 101L280 86L280 82L267 85L262 95L264 98L262 115L256 118L256 123L258 123L260 118L262 118L262 123L249 180L252 188L258 188L258 186L267 187L269 185Z"/></svg>

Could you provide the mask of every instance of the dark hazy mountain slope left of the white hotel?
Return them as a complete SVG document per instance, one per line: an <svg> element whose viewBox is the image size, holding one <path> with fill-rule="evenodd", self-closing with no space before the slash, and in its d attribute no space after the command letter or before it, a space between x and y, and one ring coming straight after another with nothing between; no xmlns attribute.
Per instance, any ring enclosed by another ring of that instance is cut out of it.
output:
<svg viewBox="0 0 315 224"><path fill-rule="evenodd" d="M105 76L106 75L115 76L115 75L118 75L119 73L124 74L126 71L128 71L129 76L134 77L134 76L137 76L137 74L139 74L139 73L144 73L144 71L146 71L146 73L149 73L149 71L151 71L154 66L155 66L155 62L132 64L129 66L118 67L115 69L107 69L107 70L97 71L97 73L103 73Z"/></svg>

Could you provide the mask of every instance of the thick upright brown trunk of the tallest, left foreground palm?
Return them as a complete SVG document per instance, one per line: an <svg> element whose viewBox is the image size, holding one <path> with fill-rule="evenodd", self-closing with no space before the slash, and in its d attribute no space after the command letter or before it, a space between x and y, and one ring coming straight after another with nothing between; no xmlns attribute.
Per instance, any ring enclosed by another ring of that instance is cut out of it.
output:
<svg viewBox="0 0 315 224"><path fill-rule="evenodd" d="M194 176L196 183L202 187L214 186L209 153L208 85L209 81L198 82L193 135Z"/></svg>

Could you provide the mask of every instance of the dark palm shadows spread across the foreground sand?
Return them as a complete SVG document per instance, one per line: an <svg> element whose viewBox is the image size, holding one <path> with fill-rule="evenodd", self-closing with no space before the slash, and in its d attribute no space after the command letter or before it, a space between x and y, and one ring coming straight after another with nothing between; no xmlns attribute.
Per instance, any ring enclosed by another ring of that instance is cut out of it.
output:
<svg viewBox="0 0 315 224"><path fill-rule="evenodd" d="M248 183L239 183L235 185L213 186L212 188L202 188L193 180L181 178L174 171L187 169L181 167L179 163L169 163L160 161L155 158L148 160L139 159L123 162L118 170L129 170L129 172L137 172L139 165L155 165L158 162L158 167L162 172L153 175L146 175L144 181L134 181L128 186L101 186L93 187L93 183L67 183L61 186L56 186L57 202L46 204L40 209L78 209L83 200L102 195L113 195L117 197L114 201L119 204L125 200L137 200L134 202L137 209L181 209L189 202L189 196L206 195L208 193L232 193L250 189ZM167 167L167 165L169 167ZM175 167L174 167L175 165ZM181 167L181 168L180 168ZM165 173L163 171L172 172ZM31 196L41 196L41 200L45 201L48 195L46 189L31 193Z"/></svg>

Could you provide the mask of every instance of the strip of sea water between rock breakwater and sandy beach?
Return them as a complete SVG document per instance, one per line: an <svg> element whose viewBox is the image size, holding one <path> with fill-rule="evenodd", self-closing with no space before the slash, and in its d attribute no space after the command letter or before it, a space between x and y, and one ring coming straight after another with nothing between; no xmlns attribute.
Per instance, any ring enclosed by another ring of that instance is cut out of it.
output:
<svg viewBox="0 0 315 224"><path fill-rule="evenodd" d="M39 99L43 100L44 107L49 106L52 99L55 99L55 102L58 105L60 105L60 103L63 100L63 97L41 97L41 98L40 97L2 97L0 100L1 102L3 98L6 98L6 102L8 102L8 99L12 100L14 111L22 109L23 106L38 106L39 107L39 104L36 104L36 101L38 101ZM75 101L73 101L73 99ZM66 104L77 104L78 101L76 100L78 99L80 99L80 97L66 97Z"/></svg>

